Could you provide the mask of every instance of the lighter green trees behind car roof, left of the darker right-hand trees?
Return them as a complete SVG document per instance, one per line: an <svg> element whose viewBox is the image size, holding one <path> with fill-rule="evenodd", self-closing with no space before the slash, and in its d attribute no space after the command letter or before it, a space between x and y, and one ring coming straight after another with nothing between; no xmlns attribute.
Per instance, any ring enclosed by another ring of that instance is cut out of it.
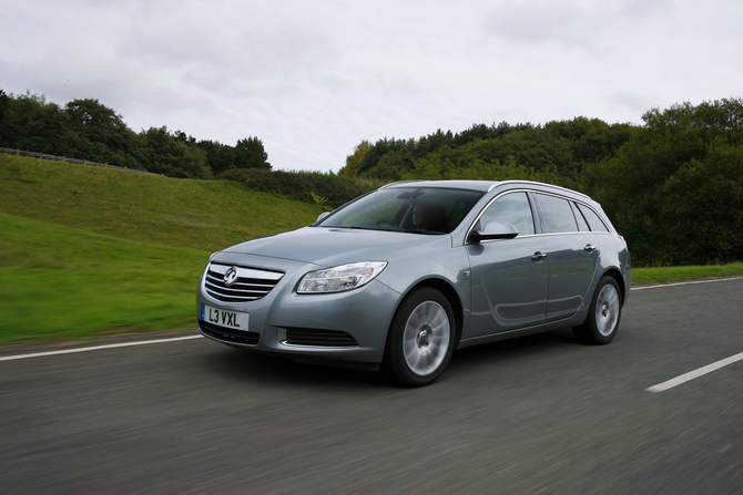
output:
<svg viewBox="0 0 743 495"><path fill-rule="evenodd" d="M419 138L363 141L346 158L343 176L391 179L525 178L577 187L586 164L614 155L638 130L577 117L542 125L474 124Z"/></svg>

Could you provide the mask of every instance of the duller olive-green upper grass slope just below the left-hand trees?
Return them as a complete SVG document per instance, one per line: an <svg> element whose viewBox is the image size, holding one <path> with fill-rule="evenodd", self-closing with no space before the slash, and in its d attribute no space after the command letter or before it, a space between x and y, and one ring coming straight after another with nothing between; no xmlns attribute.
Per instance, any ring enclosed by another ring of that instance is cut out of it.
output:
<svg viewBox="0 0 743 495"><path fill-rule="evenodd" d="M0 212L143 243L215 251L309 225L323 210L230 181L0 154Z"/></svg>

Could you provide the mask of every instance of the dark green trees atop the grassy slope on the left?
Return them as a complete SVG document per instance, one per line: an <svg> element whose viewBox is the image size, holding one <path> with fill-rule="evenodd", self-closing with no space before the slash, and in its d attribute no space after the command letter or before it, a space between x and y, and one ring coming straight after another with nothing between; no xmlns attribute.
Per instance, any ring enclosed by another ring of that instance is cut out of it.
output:
<svg viewBox="0 0 743 495"><path fill-rule="evenodd" d="M271 169L258 137L234 146L197 141L166 126L136 133L94 99L60 106L42 95L0 90L0 147L108 163L179 178L212 178L231 168Z"/></svg>

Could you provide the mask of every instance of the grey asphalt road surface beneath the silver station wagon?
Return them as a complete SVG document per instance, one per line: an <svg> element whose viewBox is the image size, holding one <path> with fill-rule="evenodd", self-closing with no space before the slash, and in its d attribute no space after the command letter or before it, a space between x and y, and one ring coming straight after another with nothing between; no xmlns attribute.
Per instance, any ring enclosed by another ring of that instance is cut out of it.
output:
<svg viewBox="0 0 743 495"><path fill-rule="evenodd" d="M0 493L743 494L743 280L633 291L604 347L465 349L431 386L205 339L0 361Z"/></svg>

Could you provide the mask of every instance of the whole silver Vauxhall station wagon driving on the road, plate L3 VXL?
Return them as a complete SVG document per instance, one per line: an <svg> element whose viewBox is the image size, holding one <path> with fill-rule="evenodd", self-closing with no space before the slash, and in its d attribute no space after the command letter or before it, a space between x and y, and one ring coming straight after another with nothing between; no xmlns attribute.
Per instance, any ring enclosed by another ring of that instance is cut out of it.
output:
<svg viewBox="0 0 743 495"><path fill-rule="evenodd" d="M313 225L212 255L213 340L426 385L455 349L572 327L617 334L630 255L588 196L526 181L388 184Z"/></svg>

